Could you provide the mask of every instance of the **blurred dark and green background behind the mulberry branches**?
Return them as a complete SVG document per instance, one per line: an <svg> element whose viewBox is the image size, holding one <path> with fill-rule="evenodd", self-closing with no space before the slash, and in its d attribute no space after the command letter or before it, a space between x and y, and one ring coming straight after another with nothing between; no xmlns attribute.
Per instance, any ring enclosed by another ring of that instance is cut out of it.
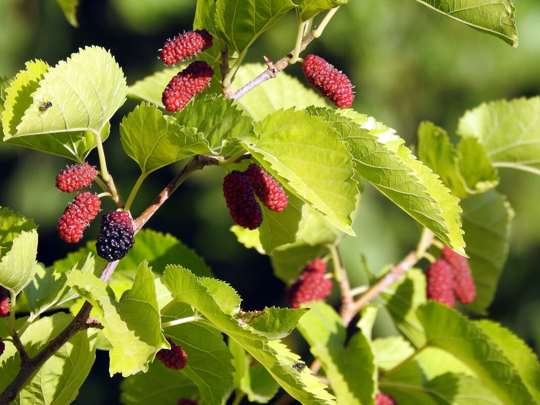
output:
<svg viewBox="0 0 540 405"><path fill-rule="evenodd" d="M342 6L323 36L306 52L316 53L347 73L356 86L354 109L394 128L414 150L416 128L431 120L453 133L467 109L499 99L540 95L540 3L515 0L518 48L435 14L412 0L355 1ZM190 30L195 0L87 0L77 17L79 28L64 18L54 0L0 0L0 76L12 77L27 60L50 65L79 47L109 49L133 84L161 69L157 50L178 32ZM279 59L293 48L294 12L262 35L249 50L247 62L265 55ZM287 73L302 78L300 65ZM137 105L128 100L113 117L105 143L109 170L120 193L129 194L138 166L122 152L118 123ZM0 205L35 219L39 225L39 257L46 265L78 246L58 238L56 223L69 194L54 187L56 174L71 162L43 153L0 146L2 176ZM97 155L89 156L97 164ZM133 205L139 214L172 179L184 162L154 172ZM285 305L285 285L275 279L269 260L242 247L228 231L232 221L221 192L224 171L208 167L197 172L154 215L147 226L170 232L206 259L215 275L237 289L245 309ZM508 196L516 217L510 256L499 283L490 317L521 336L540 352L540 178L502 170L498 187ZM113 208L107 202L104 210ZM343 260L355 282L365 281L359 258L369 268L381 268L403 257L416 243L415 222L366 186L355 221L357 238L343 240ZM96 226L85 239L97 235ZM413 235L411 237L411 235ZM379 329L385 333L384 325ZM293 340L289 345L296 344ZM305 347L297 350L308 358ZM114 377L114 381L120 377ZM78 404L117 403L107 372L107 359L98 355L96 371L84 384Z"/></svg>

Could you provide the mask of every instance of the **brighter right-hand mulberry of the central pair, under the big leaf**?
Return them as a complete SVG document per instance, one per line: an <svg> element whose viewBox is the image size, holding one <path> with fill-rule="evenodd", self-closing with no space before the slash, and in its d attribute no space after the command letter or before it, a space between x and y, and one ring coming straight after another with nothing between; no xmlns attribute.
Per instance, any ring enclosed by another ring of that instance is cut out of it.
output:
<svg viewBox="0 0 540 405"><path fill-rule="evenodd" d="M256 163L249 165L246 173L247 179L253 187L253 192L262 205L268 210L281 212L287 207L287 194L283 188L266 171Z"/></svg>

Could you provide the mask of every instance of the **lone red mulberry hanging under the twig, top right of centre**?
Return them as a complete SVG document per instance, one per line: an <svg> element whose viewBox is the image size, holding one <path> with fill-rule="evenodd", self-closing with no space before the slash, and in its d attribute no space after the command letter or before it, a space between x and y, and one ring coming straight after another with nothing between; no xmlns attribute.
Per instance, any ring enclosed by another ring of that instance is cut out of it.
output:
<svg viewBox="0 0 540 405"><path fill-rule="evenodd" d="M353 105L353 85L350 80L325 59L308 55L302 63L302 70L306 75L307 83L323 97L341 109Z"/></svg>

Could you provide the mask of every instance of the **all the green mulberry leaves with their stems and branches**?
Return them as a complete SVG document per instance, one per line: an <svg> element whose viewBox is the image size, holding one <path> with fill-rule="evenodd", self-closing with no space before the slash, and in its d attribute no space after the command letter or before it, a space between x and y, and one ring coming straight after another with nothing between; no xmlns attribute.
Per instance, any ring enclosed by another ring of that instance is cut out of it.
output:
<svg viewBox="0 0 540 405"><path fill-rule="evenodd" d="M58 3L77 25L78 2ZM170 69L127 86L114 56L99 46L79 49L53 67L27 62L15 77L0 79L3 142L76 163L96 149L100 197L110 197L119 209L130 211L150 173L190 159L145 211L132 212L136 243L121 261L107 264L87 242L45 267L36 261L33 221L0 210L0 285L10 293L9 317L0 322L0 403L72 402L98 348L109 350L110 374L125 377L125 404L190 397L219 405L233 392L237 404L244 396L266 403L279 389L289 396L281 401L305 405L369 405L378 392L399 404L540 404L540 366L530 348L495 322L470 320L427 301L426 278L416 267L424 258L433 260L443 244L468 255L477 297L460 309L487 314L514 216L496 190L497 168L540 173L540 98L500 100L465 112L457 145L446 130L423 122L416 157L396 131L353 109L330 108L282 71L323 35L341 6L347 8L343 0L296 3L198 0L193 26L214 36L214 46L199 59L213 63L215 75L172 114L161 104ZM419 3L517 46L508 0ZM293 9L298 35L291 39L291 55L267 65L244 64L254 41ZM140 104L116 132L110 120L127 96ZM111 130L140 168L125 203L106 167L104 142ZM268 255L275 276L286 282L307 262L324 258L339 285L339 310L313 302L245 311L233 287L213 278L195 252L171 235L143 228L195 170L245 170L252 161L284 187L288 206L282 213L263 210L257 230L234 226L232 232L246 248ZM423 232L414 252L379 279L350 286L338 245L355 234L363 181ZM352 287L365 287L365 293L355 299ZM380 305L367 305L375 296ZM398 334L381 338L373 323L384 312ZM284 343L296 327L315 358L310 367ZM154 361L168 349L166 338L185 349L183 370Z"/></svg>

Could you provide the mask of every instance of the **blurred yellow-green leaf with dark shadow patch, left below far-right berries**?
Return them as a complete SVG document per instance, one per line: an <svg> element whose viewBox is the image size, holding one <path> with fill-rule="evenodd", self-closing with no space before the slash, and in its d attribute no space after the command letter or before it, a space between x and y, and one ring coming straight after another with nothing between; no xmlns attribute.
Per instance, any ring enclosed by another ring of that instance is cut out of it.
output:
<svg viewBox="0 0 540 405"><path fill-rule="evenodd" d="M426 342L416 308L426 302L426 276L417 268L407 270L405 276L381 293L386 308L397 329L416 347Z"/></svg>

